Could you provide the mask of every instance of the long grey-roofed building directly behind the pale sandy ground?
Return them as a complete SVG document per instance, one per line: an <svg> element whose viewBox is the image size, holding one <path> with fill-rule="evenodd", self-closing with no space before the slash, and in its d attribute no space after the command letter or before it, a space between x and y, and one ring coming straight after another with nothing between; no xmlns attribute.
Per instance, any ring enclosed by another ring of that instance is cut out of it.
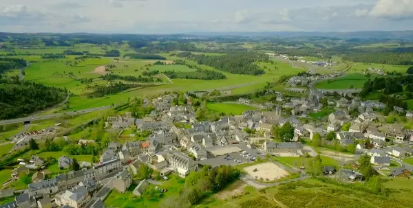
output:
<svg viewBox="0 0 413 208"><path fill-rule="evenodd" d="M263 144L264 152L267 154L295 154L299 155L303 149L303 145L299 142L280 142L276 143L274 141L266 141Z"/></svg>

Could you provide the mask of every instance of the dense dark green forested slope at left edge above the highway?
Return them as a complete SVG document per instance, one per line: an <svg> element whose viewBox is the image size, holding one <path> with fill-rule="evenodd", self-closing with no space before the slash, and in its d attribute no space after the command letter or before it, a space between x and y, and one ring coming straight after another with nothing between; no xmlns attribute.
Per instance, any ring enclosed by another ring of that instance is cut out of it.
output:
<svg viewBox="0 0 413 208"><path fill-rule="evenodd" d="M27 116L58 104L67 91L27 81L0 80L0 119Z"/></svg>

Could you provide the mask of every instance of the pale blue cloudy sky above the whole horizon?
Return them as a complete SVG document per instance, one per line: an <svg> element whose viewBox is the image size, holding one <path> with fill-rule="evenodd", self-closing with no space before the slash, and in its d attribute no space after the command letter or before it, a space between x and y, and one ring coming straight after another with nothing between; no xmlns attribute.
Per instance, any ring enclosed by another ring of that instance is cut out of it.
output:
<svg viewBox="0 0 413 208"><path fill-rule="evenodd" d="M0 32L413 30L413 0L0 0Z"/></svg>

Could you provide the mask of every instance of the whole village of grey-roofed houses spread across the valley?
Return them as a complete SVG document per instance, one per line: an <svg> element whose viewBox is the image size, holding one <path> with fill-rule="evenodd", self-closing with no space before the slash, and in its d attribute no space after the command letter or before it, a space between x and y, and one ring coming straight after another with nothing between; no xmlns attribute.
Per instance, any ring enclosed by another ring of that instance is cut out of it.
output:
<svg viewBox="0 0 413 208"><path fill-rule="evenodd" d="M297 83L296 80L291 78L288 83ZM333 95L320 92L303 97L284 97L283 93L273 93L277 95L277 104L262 105L260 110L244 111L242 115L223 116L217 121L198 121L191 102L173 105L176 94L145 99L142 106L154 107L145 117L136 118L125 112L107 117L105 121L107 130L121 133L136 128L137 132L149 132L145 141L112 141L93 164L75 162L70 156L61 156L57 163L61 170L67 172L54 177L47 176L47 159L33 155L30 161L19 160L21 165L12 171L10 180L18 180L19 176L35 172L32 183L28 189L19 191L22 194L16 196L15 200L0 207L105 207L103 201L110 190L123 193L132 183L137 184L133 194L140 197L150 184L158 184L151 178L141 181L133 179L142 165L156 171L159 179L166 181L170 174L185 178L204 165L218 167L251 163L250 167L244 169L248 174L242 177L242 181L260 189L270 186L268 182L287 177L292 172L299 178L308 178L303 165L292 168L282 163L282 158L317 157L317 146L328 146L333 142L328 137L334 137L334 141L337 141L335 145L341 146L343 150L354 149L350 151L354 155L350 162L337 157L342 165L357 165L357 158L368 155L374 169L381 174L410 177L413 166L404 163L403 159L413 154L410 148L413 132L399 124L381 124L380 116L374 109L383 108L384 104L361 102L358 97L345 93L335 93L336 99L330 98ZM185 94L185 97L189 96ZM252 104L246 97L240 97L237 102ZM319 119L318 122L306 120L311 113L319 113L326 107L332 113L326 115L325 119ZM407 112L405 116L412 117L413 113ZM185 124L187 128L178 127L176 123ZM282 138L274 135L281 129L285 131ZM47 128L28 135L17 135L14 148L28 148L30 140L36 135L47 135L53 131L54 128ZM309 146L302 142L303 139L318 145ZM78 145L94 142L81 139ZM390 168L393 162L398 167ZM81 166L80 170L70 170L74 163ZM277 174L274 175L271 170L276 170ZM364 178L357 169L324 165L322 170L326 175L340 172L337 177L345 181L363 181ZM0 196L10 197L13 194L11 188L2 189Z"/></svg>

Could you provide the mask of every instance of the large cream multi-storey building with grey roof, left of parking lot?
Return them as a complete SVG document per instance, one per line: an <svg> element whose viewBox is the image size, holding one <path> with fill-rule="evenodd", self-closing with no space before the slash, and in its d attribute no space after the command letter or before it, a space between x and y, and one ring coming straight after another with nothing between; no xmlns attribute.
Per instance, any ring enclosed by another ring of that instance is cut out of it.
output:
<svg viewBox="0 0 413 208"><path fill-rule="evenodd" d="M184 156L183 154L174 153L169 158L169 165L178 172L178 175L184 178L192 170L198 169L198 163L193 161L191 158Z"/></svg>

